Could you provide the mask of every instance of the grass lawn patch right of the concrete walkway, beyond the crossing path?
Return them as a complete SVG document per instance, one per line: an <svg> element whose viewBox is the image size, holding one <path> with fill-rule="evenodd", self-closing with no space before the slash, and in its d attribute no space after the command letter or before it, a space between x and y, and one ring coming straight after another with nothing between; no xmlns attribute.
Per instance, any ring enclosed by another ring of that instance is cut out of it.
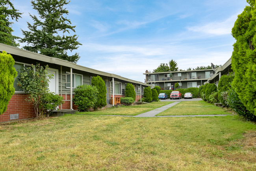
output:
<svg viewBox="0 0 256 171"><path fill-rule="evenodd" d="M225 115L228 110L214 106L204 101L180 102L173 107L159 113L157 116L167 115Z"/></svg>

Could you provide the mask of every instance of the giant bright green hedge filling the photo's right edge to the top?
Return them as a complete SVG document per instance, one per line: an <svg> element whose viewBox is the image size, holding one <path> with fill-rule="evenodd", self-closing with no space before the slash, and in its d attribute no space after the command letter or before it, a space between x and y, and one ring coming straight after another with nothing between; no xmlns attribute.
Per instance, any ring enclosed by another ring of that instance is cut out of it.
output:
<svg viewBox="0 0 256 171"><path fill-rule="evenodd" d="M235 73L232 86L246 109L256 115L256 5L255 0L247 2L232 28L236 39L231 57Z"/></svg>

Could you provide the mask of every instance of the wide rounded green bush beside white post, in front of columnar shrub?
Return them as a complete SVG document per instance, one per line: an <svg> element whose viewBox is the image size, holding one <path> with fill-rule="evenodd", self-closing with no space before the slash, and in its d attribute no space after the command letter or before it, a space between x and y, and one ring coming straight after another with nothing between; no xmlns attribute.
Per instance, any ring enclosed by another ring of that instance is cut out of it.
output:
<svg viewBox="0 0 256 171"><path fill-rule="evenodd" d="M87 84L77 86L74 89L73 102L78 106L79 111L88 111L94 107L97 102L98 89L95 86L89 86Z"/></svg>

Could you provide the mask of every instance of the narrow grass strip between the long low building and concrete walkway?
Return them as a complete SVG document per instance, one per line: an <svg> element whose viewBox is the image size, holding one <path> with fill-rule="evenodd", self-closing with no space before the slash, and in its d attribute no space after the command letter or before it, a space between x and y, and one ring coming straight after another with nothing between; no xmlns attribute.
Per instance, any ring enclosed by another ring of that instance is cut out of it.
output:
<svg viewBox="0 0 256 171"><path fill-rule="evenodd" d="M165 106L173 102L152 102L150 104L142 104L135 106L112 107L108 109L92 111L92 112L79 112L79 115L128 115L135 116Z"/></svg>

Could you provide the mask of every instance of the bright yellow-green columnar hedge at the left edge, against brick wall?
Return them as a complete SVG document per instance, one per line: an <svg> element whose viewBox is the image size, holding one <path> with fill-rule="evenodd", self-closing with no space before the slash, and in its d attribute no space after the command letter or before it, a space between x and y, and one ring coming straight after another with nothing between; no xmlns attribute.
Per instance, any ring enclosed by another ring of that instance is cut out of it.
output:
<svg viewBox="0 0 256 171"><path fill-rule="evenodd" d="M14 59L6 51L0 53L0 115L3 114L14 94L13 87L14 78L17 76L17 71L13 67Z"/></svg>

